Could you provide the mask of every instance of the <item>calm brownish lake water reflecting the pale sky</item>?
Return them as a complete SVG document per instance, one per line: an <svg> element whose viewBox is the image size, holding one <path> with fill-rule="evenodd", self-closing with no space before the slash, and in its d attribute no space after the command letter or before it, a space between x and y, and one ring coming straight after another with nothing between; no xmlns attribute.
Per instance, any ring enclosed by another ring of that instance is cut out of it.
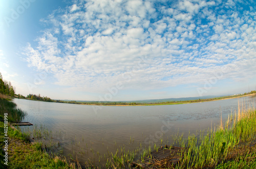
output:
<svg viewBox="0 0 256 169"><path fill-rule="evenodd" d="M60 143L62 155L77 156L81 165L88 158L98 162L98 156L104 157L120 146L133 150L140 143L143 147L150 142L159 143L162 134L166 140L178 132L187 136L189 132L214 128L221 114L226 121L231 111L238 110L239 101L246 107L255 106L255 96L155 106L93 106L14 99L27 112L24 121L34 125L22 128L46 126Z"/></svg>

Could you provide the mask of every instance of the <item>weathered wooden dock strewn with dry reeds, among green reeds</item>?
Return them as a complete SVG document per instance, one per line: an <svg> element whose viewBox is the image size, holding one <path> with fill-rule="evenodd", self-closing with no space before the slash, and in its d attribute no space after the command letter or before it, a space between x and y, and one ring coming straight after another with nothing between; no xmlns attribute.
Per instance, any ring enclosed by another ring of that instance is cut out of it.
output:
<svg viewBox="0 0 256 169"><path fill-rule="evenodd" d="M132 165L140 168L157 168L163 164L176 165L180 161L180 154L184 148L181 147L161 147L148 154L143 159L133 161Z"/></svg>

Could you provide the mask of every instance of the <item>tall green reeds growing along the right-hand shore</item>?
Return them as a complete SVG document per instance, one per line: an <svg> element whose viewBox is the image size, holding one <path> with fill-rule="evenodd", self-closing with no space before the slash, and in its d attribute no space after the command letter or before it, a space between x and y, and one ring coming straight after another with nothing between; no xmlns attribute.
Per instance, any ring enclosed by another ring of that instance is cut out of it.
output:
<svg viewBox="0 0 256 169"><path fill-rule="evenodd" d="M176 142L185 147L176 168L215 167L240 144L249 144L256 136L255 108L245 109L239 105L238 112L228 117L225 124L220 117L217 131L200 131L199 137L191 134L187 139L175 137Z"/></svg>

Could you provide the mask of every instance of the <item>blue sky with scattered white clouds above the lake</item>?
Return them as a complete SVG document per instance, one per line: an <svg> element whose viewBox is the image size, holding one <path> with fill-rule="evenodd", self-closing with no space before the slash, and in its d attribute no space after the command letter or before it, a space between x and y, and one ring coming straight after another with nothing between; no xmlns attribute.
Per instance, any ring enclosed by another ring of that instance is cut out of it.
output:
<svg viewBox="0 0 256 169"><path fill-rule="evenodd" d="M253 0L0 2L16 94L125 101L256 89Z"/></svg>

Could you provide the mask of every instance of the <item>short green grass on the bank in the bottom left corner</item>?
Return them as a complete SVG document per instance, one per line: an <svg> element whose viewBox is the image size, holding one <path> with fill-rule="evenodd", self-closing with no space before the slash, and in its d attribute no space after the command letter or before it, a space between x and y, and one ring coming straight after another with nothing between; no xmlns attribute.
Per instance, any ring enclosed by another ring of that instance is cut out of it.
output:
<svg viewBox="0 0 256 169"><path fill-rule="evenodd" d="M0 141L3 145L4 123L0 122ZM69 163L66 158L50 156L42 151L41 143L31 145L28 141L28 135L9 127L9 145L8 145L8 167L1 159L0 168L77 168L74 163ZM1 157L4 152L1 151Z"/></svg>

